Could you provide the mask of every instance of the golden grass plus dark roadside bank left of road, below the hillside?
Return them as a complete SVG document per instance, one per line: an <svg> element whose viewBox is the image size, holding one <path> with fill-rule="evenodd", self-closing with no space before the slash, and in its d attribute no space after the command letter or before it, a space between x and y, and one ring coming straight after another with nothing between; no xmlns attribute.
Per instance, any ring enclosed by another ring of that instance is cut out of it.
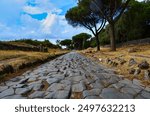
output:
<svg viewBox="0 0 150 116"><path fill-rule="evenodd" d="M49 49L49 52L25 52L0 50L0 82L22 74L44 62L52 60L68 51Z"/></svg>

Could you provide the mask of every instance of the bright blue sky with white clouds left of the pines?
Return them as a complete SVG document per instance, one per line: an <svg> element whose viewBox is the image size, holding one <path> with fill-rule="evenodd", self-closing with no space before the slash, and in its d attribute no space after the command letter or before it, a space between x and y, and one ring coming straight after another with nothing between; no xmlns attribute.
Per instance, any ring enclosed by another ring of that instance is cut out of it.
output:
<svg viewBox="0 0 150 116"><path fill-rule="evenodd" d="M77 0L0 0L0 41L22 38L71 39L84 28L73 28L65 20Z"/></svg>

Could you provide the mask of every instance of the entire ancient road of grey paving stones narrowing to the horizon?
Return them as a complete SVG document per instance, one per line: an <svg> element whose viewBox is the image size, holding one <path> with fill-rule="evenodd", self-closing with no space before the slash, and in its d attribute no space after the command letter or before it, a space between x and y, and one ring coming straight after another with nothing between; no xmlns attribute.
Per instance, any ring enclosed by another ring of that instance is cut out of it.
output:
<svg viewBox="0 0 150 116"><path fill-rule="evenodd" d="M145 87L137 79L131 81L114 73L112 69L107 69L79 53L71 52L1 83L0 98L150 98L150 87Z"/></svg>

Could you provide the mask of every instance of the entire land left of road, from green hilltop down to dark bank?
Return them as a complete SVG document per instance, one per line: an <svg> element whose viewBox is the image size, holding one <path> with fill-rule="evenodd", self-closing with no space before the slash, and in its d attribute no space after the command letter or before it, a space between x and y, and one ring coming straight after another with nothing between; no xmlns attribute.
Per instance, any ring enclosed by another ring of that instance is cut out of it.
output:
<svg viewBox="0 0 150 116"><path fill-rule="evenodd" d="M49 41L47 43L34 40L0 42L0 82L67 52Z"/></svg>

